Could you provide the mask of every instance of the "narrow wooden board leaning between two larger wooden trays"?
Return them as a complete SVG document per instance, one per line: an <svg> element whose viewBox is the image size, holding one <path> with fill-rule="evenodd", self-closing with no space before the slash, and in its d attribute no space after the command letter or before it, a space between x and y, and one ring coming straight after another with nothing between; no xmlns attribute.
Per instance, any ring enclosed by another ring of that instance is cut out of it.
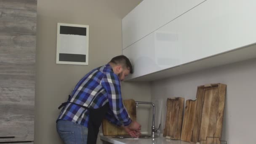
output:
<svg viewBox="0 0 256 144"><path fill-rule="evenodd" d="M182 124L181 141L190 142L192 129L195 123L195 110L197 106L197 100L187 100Z"/></svg>

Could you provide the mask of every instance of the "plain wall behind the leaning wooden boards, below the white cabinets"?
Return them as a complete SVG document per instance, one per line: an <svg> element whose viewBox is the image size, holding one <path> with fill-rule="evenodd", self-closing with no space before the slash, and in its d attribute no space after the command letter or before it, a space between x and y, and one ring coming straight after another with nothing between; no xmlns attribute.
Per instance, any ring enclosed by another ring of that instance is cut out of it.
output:
<svg viewBox="0 0 256 144"><path fill-rule="evenodd" d="M210 83L227 84L222 140L229 144L255 144L256 59L152 82L152 101L164 101L162 131L166 99L174 96L185 97L185 101L195 99L197 86Z"/></svg>

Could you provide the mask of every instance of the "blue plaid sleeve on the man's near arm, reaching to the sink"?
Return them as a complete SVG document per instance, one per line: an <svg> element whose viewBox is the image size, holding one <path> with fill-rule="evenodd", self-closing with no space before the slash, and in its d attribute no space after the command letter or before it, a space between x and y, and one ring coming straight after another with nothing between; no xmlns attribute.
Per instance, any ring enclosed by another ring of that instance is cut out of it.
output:
<svg viewBox="0 0 256 144"><path fill-rule="evenodd" d="M112 111L108 113L114 114L115 119L118 121L114 123L116 123L116 125L129 125L131 123L131 118L123 105L123 100L121 97L121 83L117 75L112 72L107 73L102 78L101 85L105 88L108 94L109 108ZM113 118L108 118L114 121Z"/></svg>

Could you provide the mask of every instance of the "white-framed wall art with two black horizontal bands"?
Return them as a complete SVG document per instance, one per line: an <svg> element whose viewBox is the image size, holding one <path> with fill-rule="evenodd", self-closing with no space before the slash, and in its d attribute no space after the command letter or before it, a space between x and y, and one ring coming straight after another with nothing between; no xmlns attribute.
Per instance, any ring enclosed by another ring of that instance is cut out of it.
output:
<svg viewBox="0 0 256 144"><path fill-rule="evenodd" d="M89 26L58 23L56 64L88 65Z"/></svg>

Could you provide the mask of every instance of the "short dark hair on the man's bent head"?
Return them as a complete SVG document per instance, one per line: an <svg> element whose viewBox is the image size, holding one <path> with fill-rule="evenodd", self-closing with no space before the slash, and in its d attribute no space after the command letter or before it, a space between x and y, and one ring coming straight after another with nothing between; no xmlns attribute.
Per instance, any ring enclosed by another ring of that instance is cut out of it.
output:
<svg viewBox="0 0 256 144"><path fill-rule="evenodd" d="M115 56L109 62L112 62L114 64L121 64L123 68L125 67L129 69L130 73L133 73L133 66L131 65L131 61L124 55Z"/></svg>

